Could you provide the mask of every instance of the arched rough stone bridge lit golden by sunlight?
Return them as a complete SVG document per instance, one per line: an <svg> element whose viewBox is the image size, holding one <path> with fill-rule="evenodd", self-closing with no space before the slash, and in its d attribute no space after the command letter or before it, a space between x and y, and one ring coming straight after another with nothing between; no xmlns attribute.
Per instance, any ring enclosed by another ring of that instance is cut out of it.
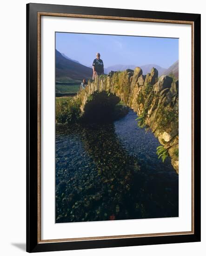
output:
<svg viewBox="0 0 206 256"><path fill-rule="evenodd" d="M86 89L74 100L80 101L82 115L92 101L92 95L106 92L115 95L137 113L139 126L151 129L160 144L170 155L173 168L179 172L179 92L178 81L162 75L158 70L143 75L140 67L134 70L111 72L88 81Z"/></svg>

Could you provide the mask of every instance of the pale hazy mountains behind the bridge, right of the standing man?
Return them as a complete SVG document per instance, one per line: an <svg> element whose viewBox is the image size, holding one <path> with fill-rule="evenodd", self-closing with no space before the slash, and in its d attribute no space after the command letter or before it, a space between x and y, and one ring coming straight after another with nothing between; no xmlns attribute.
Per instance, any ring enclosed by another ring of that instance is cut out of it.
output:
<svg viewBox="0 0 206 256"><path fill-rule="evenodd" d="M139 67L138 65L113 65L110 67L105 68L105 73L109 74L110 71L123 71L127 68L134 69L135 67ZM140 66L142 69L143 74L147 74L151 71L153 67L155 67L158 70L159 76L163 74L164 71L166 71L166 68L160 67L156 64L147 64L144 66Z"/></svg>

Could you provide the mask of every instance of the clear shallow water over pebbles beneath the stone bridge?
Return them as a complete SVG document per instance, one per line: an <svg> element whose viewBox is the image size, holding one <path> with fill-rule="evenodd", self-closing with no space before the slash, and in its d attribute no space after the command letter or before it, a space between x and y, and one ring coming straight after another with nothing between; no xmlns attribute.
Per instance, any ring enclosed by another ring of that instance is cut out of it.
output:
<svg viewBox="0 0 206 256"><path fill-rule="evenodd" d="M56 131L56 222L178 216L178 175L136 114Z"/></svg>

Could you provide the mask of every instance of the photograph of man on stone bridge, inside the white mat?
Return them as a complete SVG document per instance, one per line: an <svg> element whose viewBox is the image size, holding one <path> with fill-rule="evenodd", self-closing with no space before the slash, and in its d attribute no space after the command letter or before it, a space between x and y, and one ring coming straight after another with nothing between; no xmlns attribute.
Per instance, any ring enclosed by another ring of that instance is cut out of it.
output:
<svg viewBox="0 0 206 256"><path fill-rule="evenodd" d="M179 38L55 32L53 50L55 222L179 217Z"/></svg>

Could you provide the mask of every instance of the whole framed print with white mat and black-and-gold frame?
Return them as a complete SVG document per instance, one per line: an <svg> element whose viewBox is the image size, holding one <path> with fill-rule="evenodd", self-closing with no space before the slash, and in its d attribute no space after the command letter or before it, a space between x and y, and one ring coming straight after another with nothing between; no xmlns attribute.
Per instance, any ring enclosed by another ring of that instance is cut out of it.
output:
<svg viewBox="0 0 206 256"><path fill-rule="evenodd" d="M27 251L200 241L200 14L27 4Z"/></svg>

